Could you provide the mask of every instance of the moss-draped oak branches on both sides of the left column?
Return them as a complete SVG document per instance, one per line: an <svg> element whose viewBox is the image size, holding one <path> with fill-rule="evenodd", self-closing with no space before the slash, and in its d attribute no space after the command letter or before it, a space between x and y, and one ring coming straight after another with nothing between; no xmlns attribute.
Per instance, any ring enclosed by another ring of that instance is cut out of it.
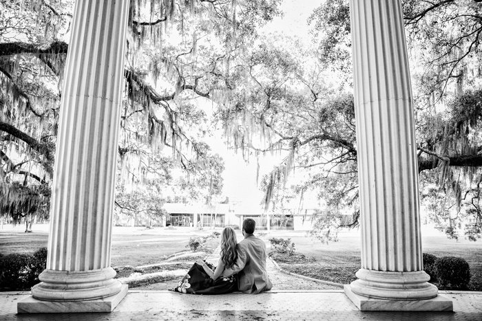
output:
<svg viewBox="0 0 482 321"><path fill-rule="evenodd" d="M122 184L173 184L163 180L169 157L167 168L187 173L180 184L197 188L189 197L209 202L220 194L224 167L203 142L205 107L227 101L236 74L231 60L280 13L278 3L132 1L118 148ZM1 3L0 210L17 221L39 208L48 215L72 9L73 1Z"/></svg>

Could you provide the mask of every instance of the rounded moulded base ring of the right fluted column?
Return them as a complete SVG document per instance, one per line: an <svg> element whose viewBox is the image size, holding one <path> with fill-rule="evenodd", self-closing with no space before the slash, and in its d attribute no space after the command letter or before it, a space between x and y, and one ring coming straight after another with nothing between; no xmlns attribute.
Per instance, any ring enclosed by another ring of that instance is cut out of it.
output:
<svg viewBox="0 0 482 321"><path fill-rule="evenodd" d="M350 284L355 294L382 300L428 300L435 298L439 290L428 283L430 276L424 271L386 272L359 269L358 280Z"/></svg>

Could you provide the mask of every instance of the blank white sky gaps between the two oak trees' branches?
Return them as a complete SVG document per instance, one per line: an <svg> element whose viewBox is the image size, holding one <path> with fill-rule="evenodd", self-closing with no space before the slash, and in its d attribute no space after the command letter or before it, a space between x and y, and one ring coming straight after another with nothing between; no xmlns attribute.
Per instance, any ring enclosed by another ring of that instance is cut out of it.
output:
<svg viewBox="0 0 482 321"><path fill-rule="evenodd" d="M282 11L284 16L277 17L260 31L264 34L280 32L286 36L293 36L310 41L308 16L322 1L320 0L284 0ZM218 139L211 142L213 151L224 157L224 195L231 201L240 201L244 210L259 212L263 193L256 186L255 157L246 164L241 155L228 151L226 145ZM260 160L260 179L269 173L273 166L279 164L282 157L265 157Z"/></svg>

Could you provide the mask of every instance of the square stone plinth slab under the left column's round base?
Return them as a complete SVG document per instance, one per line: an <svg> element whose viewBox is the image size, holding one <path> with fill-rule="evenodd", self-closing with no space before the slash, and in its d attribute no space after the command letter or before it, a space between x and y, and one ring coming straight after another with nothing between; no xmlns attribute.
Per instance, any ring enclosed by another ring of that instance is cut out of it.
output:
<svg viewBox="0 0 482 321"><path fill-rule="evenodd" d="M112 312L127 294L127 288L122 285L114 296L87 301L42 301L29 296L17 303L17 313Z"/></svg>

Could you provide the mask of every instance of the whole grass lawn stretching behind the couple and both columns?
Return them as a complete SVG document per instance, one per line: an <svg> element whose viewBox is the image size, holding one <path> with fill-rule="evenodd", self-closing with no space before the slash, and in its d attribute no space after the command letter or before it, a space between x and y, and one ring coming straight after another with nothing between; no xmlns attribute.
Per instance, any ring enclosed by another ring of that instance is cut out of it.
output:
<svg viewBox="0 0 482 321"><path fill-rule="evenodd" d="M112 236L112 265L147 265L162 261L163 256L187 250L191 236L207 236L213 230L196 231L178 228L114 228ZM220 231L220 229L218 229ZM238 241L242 240L240 231ZM422 234L423 235L423 234ZM313 258L314 262L283 262L284 269L313 278L337 283L350 283L355 280L355 272L360 267L359 237L356 232L340 234L340 241L324 245L305 236L305 232L272 231L264 236L290 237L296 245L296 252ZM23 233L21 229L0 230L0 253L32 253L47 245L48 234L43 231ZM423 252L435 256L459 256L465 258L472 274L471 289L482 291L482 242L449 240L443 234L424 236ZM210 241L216 247L219 239Z"/></svg>

